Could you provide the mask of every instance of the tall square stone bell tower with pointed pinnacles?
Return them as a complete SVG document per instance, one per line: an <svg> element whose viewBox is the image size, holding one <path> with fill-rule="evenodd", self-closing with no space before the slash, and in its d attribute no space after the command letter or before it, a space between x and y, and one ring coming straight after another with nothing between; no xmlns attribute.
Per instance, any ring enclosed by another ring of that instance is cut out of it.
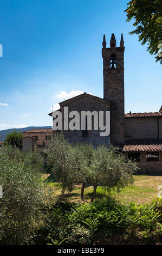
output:
<svg viewBox="0 0 162 256"><path fill-rule="evenodd" d="M122 144L124 133L124 40L121 34L120 46L112 34L110 47L106 48L103 35L103 98L111 102L111 144Z"/></svg>

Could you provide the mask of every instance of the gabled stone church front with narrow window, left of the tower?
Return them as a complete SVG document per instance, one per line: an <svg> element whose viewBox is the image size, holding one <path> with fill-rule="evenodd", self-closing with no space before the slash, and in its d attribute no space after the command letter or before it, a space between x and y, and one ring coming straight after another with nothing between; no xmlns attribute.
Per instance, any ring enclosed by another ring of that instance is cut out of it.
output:
<svg viewBox="0 0 162 256"><path fill-rule="evenodd" d="M60 103L60 109L62 115L64 114L64 107L68 107L68 112L77 111L81 114L81 111L109 111L110 103L108 100L101 99L100 97L96 97L87 93L83 93L79 96L73 97L72 99L63 101ZM51 113L50 113L51 115ZM64 116L63 116L64 119ZM70 120L70 118L69 118ZM70 143L76 142L88 142L92 143L93 145L98 144L107 144L110 145L109 136L100 136L101 130L81 130L81 118L80 118L80 130L64 130L63 126L63 134L64 137L68 139ZM64 122L63 122L64 124Z"/></svg>

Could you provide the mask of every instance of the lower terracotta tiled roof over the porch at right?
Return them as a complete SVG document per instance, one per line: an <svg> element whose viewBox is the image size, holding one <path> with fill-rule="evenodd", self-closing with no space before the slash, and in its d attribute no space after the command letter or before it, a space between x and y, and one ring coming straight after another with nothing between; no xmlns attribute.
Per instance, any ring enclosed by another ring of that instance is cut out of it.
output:
<svg viewBox="0 0 162 256"><path fill-rule="evenodd" d="M123 152L162 151L162 141L158 139L129 139L126 141Z"/></svg>

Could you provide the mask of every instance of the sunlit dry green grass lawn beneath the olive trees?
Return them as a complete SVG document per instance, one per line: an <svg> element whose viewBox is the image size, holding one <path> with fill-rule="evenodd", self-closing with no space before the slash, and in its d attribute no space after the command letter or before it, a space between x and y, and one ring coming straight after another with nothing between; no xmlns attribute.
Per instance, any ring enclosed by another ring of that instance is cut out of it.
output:
<svg viewBox="0 0 162 256"><path fill-rule="evenodd" d="M51 182L48 179L49 174L43 174L42 181L46 180L49 186L54 187L55 193L59 196L60 200L70 200L71 202L81 202L80 191L81 184L76 185L72 193L61 194L62 186L58 182ZM112 191L113 197L116 197L121 201L121 203L127 203L134 201L137 204L144 204L150 202L152 199L157 197L157 190L159 185L162 185L162 176L148 176L148 175L135 175L134 185L122 188L120 193ZM85 202L90 202L92 196L93 187L87 185L85 188ZM102 198L108 195L108 193L99 186L96 191L96 198Z"/></svg>

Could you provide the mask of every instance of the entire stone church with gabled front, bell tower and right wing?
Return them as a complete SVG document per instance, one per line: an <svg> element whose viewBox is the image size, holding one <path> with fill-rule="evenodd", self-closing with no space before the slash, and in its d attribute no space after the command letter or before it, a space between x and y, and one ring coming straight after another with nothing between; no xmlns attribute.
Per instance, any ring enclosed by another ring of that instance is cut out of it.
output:
<svg viewBox="0 0 162 256"><path fill-rule="evenodd" d="M100 130L64 130L70 143L89 142L119 145L128 159L138 161L140 173L162 173L162 106L155 113L128 113L124 111L124 39L116 47L114 34L106 47L105 35L102 42L103 99L87 93L60 103L70 111L110 111L110 134L100 136ZM49 115L53 115L50 113ZM87 127L87 126L86 126Z"/></svg>

